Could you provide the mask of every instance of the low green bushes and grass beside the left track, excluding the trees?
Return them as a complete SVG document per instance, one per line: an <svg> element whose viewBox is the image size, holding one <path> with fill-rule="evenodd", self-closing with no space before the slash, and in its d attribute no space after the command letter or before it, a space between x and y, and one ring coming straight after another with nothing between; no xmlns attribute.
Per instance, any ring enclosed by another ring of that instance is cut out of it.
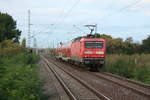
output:
<svg viewBox="0 0 150 100"><path fill-rule="evenodd" d="M0 59L0 100L45 100L38 76L39 57L22 52Z"/></svg>

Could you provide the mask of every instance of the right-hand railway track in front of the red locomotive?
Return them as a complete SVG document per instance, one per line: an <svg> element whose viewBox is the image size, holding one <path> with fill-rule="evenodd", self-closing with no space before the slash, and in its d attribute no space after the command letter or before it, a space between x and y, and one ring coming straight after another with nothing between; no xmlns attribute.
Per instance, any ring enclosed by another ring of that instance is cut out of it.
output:
<svg viewBox="0 0 150 100"><path fill-rule="evenodd" d="M119 78L119 77L109 74L109 73L96 73L96 74L92 73L92 74L100 79L105 79L111 83L117 84L117 85L127 88L127 89L130 89L139 95L143 95L143 96L150 98L150 89L145 88L145 87L147 87L146 85L141 85L141 84L138 84L133 81L131 84L130 83L131 81L129 81L129 80L127 82L126 79L123 79L121 77Z"/></svg>

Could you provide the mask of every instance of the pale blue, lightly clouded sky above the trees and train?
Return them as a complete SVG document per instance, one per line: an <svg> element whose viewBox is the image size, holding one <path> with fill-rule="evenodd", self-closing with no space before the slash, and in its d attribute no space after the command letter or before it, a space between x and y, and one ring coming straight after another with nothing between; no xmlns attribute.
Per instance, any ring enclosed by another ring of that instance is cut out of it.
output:
<svg viewBox="0 0 150 100"><path fill-rule="evenodd" d="M17 21L21 39L28 35L28 9L38 47L85 35L86 24L98 24L99 33L131 36L134 41L150 35L150 0L0 0L0 11Z"/></svg>

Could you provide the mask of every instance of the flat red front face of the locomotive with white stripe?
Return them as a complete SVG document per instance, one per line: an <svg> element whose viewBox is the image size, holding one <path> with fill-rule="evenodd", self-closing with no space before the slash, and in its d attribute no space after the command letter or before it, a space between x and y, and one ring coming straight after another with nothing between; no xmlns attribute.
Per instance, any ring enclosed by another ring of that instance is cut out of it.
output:
<svg viewBox="0 0 150 100"><path fill-rule="evenodd" d="M82 62L85 65L103 65L105 63L106 44L104 39L85 39L82 42Z"/></svg>

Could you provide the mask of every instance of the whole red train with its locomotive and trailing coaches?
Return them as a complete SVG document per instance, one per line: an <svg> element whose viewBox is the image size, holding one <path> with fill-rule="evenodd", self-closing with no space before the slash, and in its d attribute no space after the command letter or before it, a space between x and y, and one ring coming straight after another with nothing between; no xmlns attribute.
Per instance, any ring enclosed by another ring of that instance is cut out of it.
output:
<svg viewBox="0 0 150 100"><path fill-rule="evenodd" d="M78 37L56 49L56 58L71 64L82 64L91 71L100 71L105 64L106 40L93 35Z"/></svg>

